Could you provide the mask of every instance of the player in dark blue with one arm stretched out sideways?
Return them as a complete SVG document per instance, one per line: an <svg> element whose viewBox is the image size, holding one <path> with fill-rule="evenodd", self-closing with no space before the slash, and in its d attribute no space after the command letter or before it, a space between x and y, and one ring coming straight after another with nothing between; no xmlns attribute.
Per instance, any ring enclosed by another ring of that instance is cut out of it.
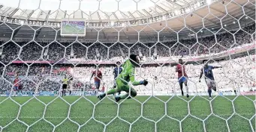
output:
<svg viewBox="0 0 256 132"><path fill-rule="evenodd" d="M222 68L222 66L209 66L207 60L203 60L203 69L201 69L199 82L204 74L206 85L208 87L209 99L212 99L212 89L216 91L216 84L214 81L212 69Z"/></svg>

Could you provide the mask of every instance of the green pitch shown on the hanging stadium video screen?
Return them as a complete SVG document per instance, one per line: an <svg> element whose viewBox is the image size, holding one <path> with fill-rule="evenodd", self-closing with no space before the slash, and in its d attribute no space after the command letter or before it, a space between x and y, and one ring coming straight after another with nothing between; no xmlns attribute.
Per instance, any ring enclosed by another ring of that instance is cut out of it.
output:
<svg viewBox="0 0 256 132"><path fill-rule="evenodd" d="M85 30L75 26L65 25L62 27L62 34L85 34Z"/></svg>

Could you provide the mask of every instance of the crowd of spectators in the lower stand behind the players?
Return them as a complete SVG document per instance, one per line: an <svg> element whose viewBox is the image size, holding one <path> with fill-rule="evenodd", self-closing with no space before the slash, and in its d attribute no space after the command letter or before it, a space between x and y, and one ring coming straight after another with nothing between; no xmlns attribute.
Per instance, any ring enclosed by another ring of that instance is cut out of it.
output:
<svg viewBox="0 0 256 132"><path fill-rule="evenodd" d="M252 56L251 56L252 57ZM255 87L255 67L250 57L238 57L233 60L224 60L220 62L211 62L212 66L223 66L221 69L213 69L215 82L219 91L227 92L233 89L247 91L251 87ZM188 75L189 92L206 92L206 84L198 82L200 69L202 65L188 64L186 72ZM110 89L113 87L114 66L100 66L103 74L101 87ZM14 81L15 72L19 71L20 84L23 85L23 91L57 91L62 87L62 79L65 75L70 78L70 89L93 89L94 81L90 80L92 71L95 66L71 66L71 65L56 65L52 69L45 65L38 64L37 66L11 64L5 69L1 78L0 94L11 89ZM155 80L155 77L157 80ZM151 95L152 91L155 95L177 92L179 93L179 84L177 81L177 73L175 66L143 66L136 69L135 78L149 80L149 85L146 87L137 86L139 95ZM89 87L86 87L86 85Z"/></svg>

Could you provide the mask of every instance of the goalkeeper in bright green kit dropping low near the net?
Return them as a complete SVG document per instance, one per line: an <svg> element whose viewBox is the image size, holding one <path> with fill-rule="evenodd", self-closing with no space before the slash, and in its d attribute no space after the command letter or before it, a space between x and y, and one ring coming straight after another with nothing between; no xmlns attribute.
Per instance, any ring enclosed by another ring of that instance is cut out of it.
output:
<svg viewBox="0 0 256 132"><path fill-rule="evenodd" d="M148 81L134 81L134 72L135 72L135 66L137 66L140 63L140 57L131 54L130 55L131 60L126 60L124 64L122 64L122 72L119 74L119 76L116 78L116 88L110 89L109 91L102 93L101 95L98 95L98 98L101 100L106 95L113 95L116 92L125 91L127 92L125 95L116 95L115 99L116 102L118 102L120 99L125 99L129 96L129 92L131 89L131 97L135 97L137 95L137 92L135 89L129 86L128 82L131 81L132 85L144 85L146 86L148 84Z"/></svg>

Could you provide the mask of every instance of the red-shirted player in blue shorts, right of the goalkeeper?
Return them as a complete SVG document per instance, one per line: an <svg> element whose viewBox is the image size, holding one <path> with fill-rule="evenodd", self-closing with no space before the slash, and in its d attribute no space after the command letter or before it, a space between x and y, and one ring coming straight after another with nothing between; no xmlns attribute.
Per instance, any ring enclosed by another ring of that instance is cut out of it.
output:
<svg viewBox="0 0 256 132"><path fill-rule="evenodd" d="M176 66L176 72L178 72L178 80L179 80L179 87L182 90L182 96L184 95L183 93L183 83L185 84L185 89L187 92L187 98L189 97L188 95L188 75L185 73L185 66L182 66L183 61L182 59L179 59L179 64Z"/></svg>

